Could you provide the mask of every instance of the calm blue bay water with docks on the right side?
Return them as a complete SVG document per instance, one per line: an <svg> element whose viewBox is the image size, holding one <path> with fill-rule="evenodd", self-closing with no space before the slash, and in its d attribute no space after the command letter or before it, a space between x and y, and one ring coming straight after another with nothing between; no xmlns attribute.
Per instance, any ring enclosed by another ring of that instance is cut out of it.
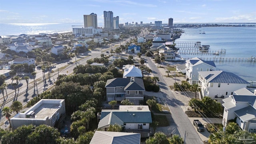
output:
<svg viewBox="0 0 256 144"><path fill-rule="evenodd" d="M256 27L184 28L176 42L201 42L210 50L226 49L216 58L250 58L256 56ZM206 34L200 34L205 32ZM183 58L214 58L214 55L180 55ZM215 62L216 70L233 72L247 81L256 81L256 62ZM256 82L253 83L256 86Z"/></svg>

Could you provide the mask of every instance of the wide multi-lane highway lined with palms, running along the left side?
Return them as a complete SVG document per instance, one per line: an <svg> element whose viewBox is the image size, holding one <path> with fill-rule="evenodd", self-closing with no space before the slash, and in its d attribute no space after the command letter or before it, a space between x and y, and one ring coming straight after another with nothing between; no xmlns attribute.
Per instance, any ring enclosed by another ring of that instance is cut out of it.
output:
<svg viewBox="0 0 256 144"><path fill-rule="evenodd" d="M121 42L121 44L126 44L126 43ZM116 44L116 46L113 46L112 49L115 50L118 47L120 47L120 44ZM103 48L103 49L97 48L96 50L85 52L83 54L83 56L72 58L71 60L64 60L62 62L54 64L54 66L56 66L56 68L52 69L52 70L54 70L54 74L50 74L51 78L50 78L50 80L49 79L46 80L46 84L44 84L43 81L42 81L43 80L42 79L42 70L36 69L37 74L36 74L35 80L37 82L38 94L40 94L43 91L45 91L45 90L51 88L52 86L54 86L54 79L56 80L57 77L58 77L58 68L61 68L61 67L67 65L67 67L64 70L59 71L59 74L73 73L73 69L76 67L76 65L79 65L79 64L84 65L84 64L86 64L86 61L89 60L89 59L99 58L100 54L101 54L101 51L104 52L104 51L107 51L107 50L110 50L110 49L111 49L111 47ZM77 60L77 64L75 63L75 59ZM68 64L69 61L72 61L74 63L73 64ZM48 74L46 73L45 75L46 75L46 78L47 78ZM12 80L8 79L7 81L8 81L8 83L10 83ZM16 81L14 81L14 82L16 82ZM31 84L31 82L32 82L32 84ZM8 93L7 100L4 102L3 98L2 97L0 98L2 100L1 105L0 105L0 125L3 124L3 122L6 122L5 116L2 116L2 112L1 112L2 108L4 108L5 106L10 107L12 102L14 102L16 100L20 101L22 103L22 105L25 106L28 100L32 99L34 96L37 96L37 91L35 90L35 92L34 92L33 79L30 79L29 83L30 83L29 88L27 90L26 80L22 80L20 82L19 90L18 90L18 88L16 90L17 94L15 94L14 89L11 89L11 87L8 87L8 89L7 89L7 93ZM6 94L5 94L5 97L6 97ZM14 114L15 113L13 113L12 116L14 116Z"/></svg>

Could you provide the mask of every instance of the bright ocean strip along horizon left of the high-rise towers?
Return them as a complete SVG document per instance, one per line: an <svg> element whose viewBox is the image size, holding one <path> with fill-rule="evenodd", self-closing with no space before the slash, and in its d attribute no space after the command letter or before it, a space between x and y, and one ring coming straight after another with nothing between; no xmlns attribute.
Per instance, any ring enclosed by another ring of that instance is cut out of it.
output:
<svg viewBox="0 0 256 144"><path fill-rule="evenodd" d="M71 32L72 25L82 26L83 24L0 24L0 36Z"/></svg>

